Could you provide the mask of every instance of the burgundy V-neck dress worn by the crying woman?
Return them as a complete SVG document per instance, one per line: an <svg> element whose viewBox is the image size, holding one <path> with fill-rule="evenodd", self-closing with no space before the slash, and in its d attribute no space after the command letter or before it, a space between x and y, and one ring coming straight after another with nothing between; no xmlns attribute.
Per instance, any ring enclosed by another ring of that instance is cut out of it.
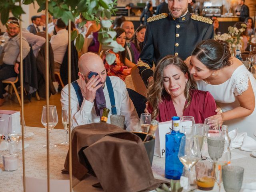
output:
<svg viewBox="0 0 256 192"><path fill-rule="evenodd" d="M193 116L196 123L204 123L205 118L216 115L216 103L209 92L192 89L190 95L191 103L184 109L183 116ZM149 107L148 109L152 113L152 108ZM172 99L168 94L163 98L163 102L159 104L159 114L156 120L159 122L170 121L172 120L172 116L177 116L177 113Z"/></svg>

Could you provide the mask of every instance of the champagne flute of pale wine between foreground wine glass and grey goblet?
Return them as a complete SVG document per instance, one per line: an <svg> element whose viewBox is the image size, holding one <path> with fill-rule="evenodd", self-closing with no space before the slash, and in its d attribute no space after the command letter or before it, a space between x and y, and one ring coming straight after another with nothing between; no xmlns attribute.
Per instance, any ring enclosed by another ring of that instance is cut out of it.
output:
<svg viewBox="0 0 256 192"><path fill-rule="evenodd" d="M192 134L198 138L200 153L201 153L201 160L206 160L206 157L202 156L202 149L204 147L204 143L206 140L206 130L209 129L209 126L202 123L194 124L192 127Z"/></svg>

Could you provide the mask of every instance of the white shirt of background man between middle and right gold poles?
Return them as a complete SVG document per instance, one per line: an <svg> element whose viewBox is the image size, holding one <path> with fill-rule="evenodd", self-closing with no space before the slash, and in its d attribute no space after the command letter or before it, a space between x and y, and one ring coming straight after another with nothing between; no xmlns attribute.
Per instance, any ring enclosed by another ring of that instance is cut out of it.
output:
<svg viewBox="0 0 256 192"><path fill-rule="evenodd" d="M62 64L68 46L68 31L66 29L59 30L56 35L51 36L50 43L53 50L54 62Z"/></svg>

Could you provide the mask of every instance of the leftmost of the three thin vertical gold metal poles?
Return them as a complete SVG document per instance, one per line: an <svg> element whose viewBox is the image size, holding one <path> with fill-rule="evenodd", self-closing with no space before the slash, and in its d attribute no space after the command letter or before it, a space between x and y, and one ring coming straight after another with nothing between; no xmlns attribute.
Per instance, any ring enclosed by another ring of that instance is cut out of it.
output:
<svg viewBox="0 0 256 192"><path fill-rule="evenodd" d="M22 2L20 0L20 6L22 5ZM20 14L20 95L21 95L21 126L22 126L22 167L23 167L23 190L26 192L26 172L25 172L25 148L24 148L24 95L23 95L23 53L22 53L22 16Z"/></svg>

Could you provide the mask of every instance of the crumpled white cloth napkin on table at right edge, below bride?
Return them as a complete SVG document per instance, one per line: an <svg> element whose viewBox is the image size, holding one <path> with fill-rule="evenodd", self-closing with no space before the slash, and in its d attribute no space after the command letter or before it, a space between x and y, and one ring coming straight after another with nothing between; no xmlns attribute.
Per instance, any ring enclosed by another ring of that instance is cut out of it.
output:
<svg viewBox="0 0 256 192"><path fill-rule="evenodd" d="M228 133L230 137L230 149L240 148L243 151L256 150L256 140L247 136L246 132L238 133L238 129L234 129Z"/></svg>

